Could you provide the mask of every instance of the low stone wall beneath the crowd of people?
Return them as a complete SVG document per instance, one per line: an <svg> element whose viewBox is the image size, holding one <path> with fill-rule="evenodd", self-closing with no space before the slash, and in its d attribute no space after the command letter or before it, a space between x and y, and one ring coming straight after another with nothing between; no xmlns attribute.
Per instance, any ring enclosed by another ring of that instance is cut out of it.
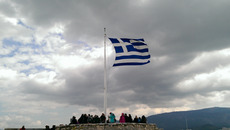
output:
<svg viewBox="0 0 230 130"><path fill-rule="evenodd" d="M56 130L163 130L155 124L146 123L108 123L108 124L77 124L58 126Z"/></svg>

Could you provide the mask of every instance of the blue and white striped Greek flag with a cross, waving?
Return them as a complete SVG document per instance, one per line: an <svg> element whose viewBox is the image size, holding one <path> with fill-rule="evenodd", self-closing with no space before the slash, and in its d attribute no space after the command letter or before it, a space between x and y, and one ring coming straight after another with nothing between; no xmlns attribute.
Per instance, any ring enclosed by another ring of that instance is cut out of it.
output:
<svg viewBox="0 0 230 130"><path fill-rule="evenodd" d="M116 58L113 66L144 65L150 63L150 54L144 39L109 38Z"/></svg>

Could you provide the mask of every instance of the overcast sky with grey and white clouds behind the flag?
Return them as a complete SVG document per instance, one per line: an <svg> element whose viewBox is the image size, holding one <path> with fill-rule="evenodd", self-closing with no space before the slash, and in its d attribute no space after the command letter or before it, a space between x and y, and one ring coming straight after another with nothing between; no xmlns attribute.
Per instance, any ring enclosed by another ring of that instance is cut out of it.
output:
<svg viewBox="0 0 230 130"><path fill-rule="evenodd" d="M112 67L108 112L230 107L229 0L0 0L0 129L103 112L108 37L144 38L151 63Z"/></svg>

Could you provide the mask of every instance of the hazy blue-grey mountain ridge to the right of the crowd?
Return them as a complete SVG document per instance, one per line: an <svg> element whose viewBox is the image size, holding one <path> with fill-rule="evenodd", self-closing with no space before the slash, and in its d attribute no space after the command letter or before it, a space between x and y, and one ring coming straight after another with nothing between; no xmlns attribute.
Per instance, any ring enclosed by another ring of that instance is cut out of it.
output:
<svg viewBox="0 0 230 130"><path fill-rule="evenodd" d="M206 108L192 111L163 113L147 117L149 123L155 123L164 130L182 130L187 126L192 130L219 130L230 128L230 108Z"/></svg>

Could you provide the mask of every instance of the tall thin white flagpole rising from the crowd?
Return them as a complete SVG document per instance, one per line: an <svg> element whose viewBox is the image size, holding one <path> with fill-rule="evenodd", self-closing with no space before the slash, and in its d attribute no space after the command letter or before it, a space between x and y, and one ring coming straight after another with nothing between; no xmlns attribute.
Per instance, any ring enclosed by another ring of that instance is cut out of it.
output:
<svg viewBox="0 0 230 130"><path fill-rule="evenodd" d="M105 117L107 117L106 28L104 28L104 113Z"/></svg>

